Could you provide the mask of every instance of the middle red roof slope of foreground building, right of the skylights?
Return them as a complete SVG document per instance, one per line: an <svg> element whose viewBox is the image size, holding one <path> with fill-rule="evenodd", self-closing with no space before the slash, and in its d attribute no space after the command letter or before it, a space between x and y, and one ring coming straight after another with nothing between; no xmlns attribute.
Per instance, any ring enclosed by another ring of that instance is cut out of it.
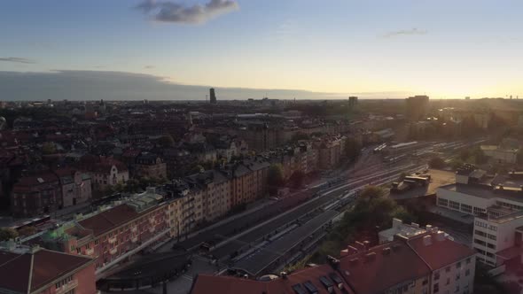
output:
<svg viewBox="0 0 523 294"><path fill-rule="evenodd" d="M430 275L431 270L407 244L395 241L343 257L340 272L356 293L373 294L400 282Z"/></svg>

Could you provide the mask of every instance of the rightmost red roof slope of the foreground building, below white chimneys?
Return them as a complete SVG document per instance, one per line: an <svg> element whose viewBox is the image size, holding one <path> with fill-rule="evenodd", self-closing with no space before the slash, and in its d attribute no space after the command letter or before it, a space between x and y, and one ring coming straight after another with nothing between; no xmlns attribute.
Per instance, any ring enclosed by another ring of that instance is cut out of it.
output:
<svg viewBox="0 0 523 294"><path fill-rule="evenodd" d="M424 236L431 236L429 245L424 244ZM475 254L468 246L449 240L446 237L441 238L441 241L439 241L436 233L426 233L411 237L407 243L433 270L446 267Z"/></svg>

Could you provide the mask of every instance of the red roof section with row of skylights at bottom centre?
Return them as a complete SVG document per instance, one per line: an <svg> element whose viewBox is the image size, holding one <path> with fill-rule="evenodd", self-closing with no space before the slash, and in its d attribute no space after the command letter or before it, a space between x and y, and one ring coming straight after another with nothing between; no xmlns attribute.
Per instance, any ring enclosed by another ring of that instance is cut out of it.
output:
<svg viewBox="0 0 523 294"><path fill-rule="evenodd" d="M300 287L307 292L303 285L305 282L312 283L318 290L318 294L327 294L329 291L325 288L324 284L320 282L320 277L322 276L332 282L333 291L331 293L354 293L348 288L348 285L345 282L342 282L342 284L347 291L342 292L339 290L337 288L337 283L332 280L330 275L337 275L341 280L343 280L340 274L335 273L332 267L328 265L304 268L291 275L287 275L285 279L277 278L268 282L242 279L232 276L198 275L192 286L191 294L295 294L296 292L293 290L293 286L297 284L300 284Z"/></svg>

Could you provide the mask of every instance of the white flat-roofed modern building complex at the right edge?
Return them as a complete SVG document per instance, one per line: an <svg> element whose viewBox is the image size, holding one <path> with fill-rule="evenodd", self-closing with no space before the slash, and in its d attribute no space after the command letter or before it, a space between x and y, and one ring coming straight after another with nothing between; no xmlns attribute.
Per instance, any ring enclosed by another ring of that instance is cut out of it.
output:
<svg viewBox="0 0 523 294"><path fill-rule="evenodd" d="M441 186L436 192L438 206L475 216L472 247L478 259L489 266L501 267L508 259L519 259L523 252L518 233L523 227L521 180L519 173L486 179L484 173L460 170L457 183Z"/></svg>

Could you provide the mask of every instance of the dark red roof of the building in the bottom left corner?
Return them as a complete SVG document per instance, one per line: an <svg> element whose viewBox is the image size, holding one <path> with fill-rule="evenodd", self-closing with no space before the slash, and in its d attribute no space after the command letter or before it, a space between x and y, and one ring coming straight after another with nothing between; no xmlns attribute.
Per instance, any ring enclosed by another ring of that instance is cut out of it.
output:
<svg viewBox="0 0 523 294"><path fill-rule="evenodd" d="M0 276L4 277L0 279L0 288L27 293L31 262L33 291L60 277L65 278L91 261L92 259L82 256L43 249L24 254L0 251Z"/></svg>

